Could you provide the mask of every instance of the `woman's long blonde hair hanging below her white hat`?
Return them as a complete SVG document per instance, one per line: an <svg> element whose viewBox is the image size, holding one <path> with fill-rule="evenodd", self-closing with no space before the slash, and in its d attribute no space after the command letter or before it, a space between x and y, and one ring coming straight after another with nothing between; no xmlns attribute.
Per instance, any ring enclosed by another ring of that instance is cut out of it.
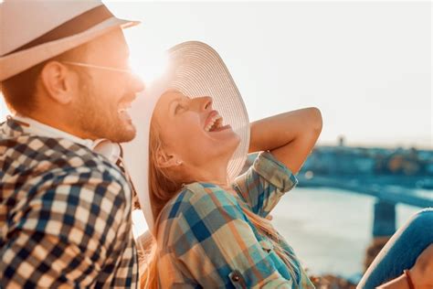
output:
<svg viewBox="0 0 433 289"><path fill-rule="evenodd" d="M173 172L157 166L156 155L163 150L163 141L158 132L157 123L151 123L151 133L149 139L149 191L153 204L153 216L159 217L161 210L170 198L173 198L182 188L182 182L174 177ZM238 200L241 201L240 199ZM269 237L274 247L274 251L280 259L287 265L290 275L295 279L294 273L296 257L280 245L280 235L275 230L269 219L265 219L241 206L242 211L248 220L259 230L259 233ZM158 230L158 220L155 218L153 227L153 236L156 236ZM158 246L153 239L147 244L145 251L139 255L140 260L140 287L146 289L159 288L158 278Z"/></svg>

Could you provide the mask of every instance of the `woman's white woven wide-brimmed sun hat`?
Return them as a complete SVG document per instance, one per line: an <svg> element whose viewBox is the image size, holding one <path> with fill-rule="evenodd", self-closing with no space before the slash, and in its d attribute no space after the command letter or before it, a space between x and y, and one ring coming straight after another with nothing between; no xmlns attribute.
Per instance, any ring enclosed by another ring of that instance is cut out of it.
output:
<svg viewBox="0 0 433 289"><path fill-rule="evenodd" d="M195 98L210 96L213 107L240 137L240 144L227 166L233 180L241 172L248 155L248 113L235 81L216 50L205 43L188 41L167 52L168 69L153 81L132 104L132 121L137 128L135 139L124 145L124 157L149 229L153 229L153 206L149 195L149 134L153 110L164 91L174 89Z"/></svg>

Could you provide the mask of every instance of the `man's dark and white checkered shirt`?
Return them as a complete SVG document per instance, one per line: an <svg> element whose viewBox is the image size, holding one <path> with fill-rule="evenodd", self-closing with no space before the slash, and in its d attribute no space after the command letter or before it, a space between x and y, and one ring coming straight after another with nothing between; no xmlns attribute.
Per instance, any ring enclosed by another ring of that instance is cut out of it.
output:
<svg viewBox="0 0 433 289"><path fill-rule="evenodd" d="M136 287L131 188L62 138L0 124L0 287Z"/></svg>

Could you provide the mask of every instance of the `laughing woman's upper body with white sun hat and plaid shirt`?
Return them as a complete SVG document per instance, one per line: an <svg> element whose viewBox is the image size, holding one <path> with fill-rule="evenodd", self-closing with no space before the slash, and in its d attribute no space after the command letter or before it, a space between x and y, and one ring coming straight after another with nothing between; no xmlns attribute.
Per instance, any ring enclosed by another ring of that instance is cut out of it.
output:
<svg viewBox="0 0 433 289"><path fill-rule="evenodd" d="M147 103L153 101L155 108L144 113L152 122L149 190L142 205L155 241L143 256L142 286L313 287L267 218L296 185L294 174L322 130L321 113L308 108L234 128L230 124L237 119L245 122L245 110L233 113L232 102L241 99L216 52L186 43L172 54L171 76L148 92ZM182 92L187 88L189 93ZM190 96L200 91L215 100ZM250 138L242 136L245 131ZM234 179L245 147L261 153Z"/></svg>

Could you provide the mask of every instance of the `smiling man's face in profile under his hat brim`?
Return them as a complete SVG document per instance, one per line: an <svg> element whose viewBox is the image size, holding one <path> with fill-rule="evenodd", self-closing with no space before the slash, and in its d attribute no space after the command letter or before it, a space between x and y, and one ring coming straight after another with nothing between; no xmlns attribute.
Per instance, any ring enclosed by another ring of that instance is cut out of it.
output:
<svg viewBox="0 0 433 289"><path fill-rule="evenodd" d="M129 50L121 29L99 37L87 46L86 62L91 65L128 70ZM129 142L135 127L126 109L143 82L132 73L79 68L78 95L74 98L74 118L82 132L92 139Z"/></svg>

